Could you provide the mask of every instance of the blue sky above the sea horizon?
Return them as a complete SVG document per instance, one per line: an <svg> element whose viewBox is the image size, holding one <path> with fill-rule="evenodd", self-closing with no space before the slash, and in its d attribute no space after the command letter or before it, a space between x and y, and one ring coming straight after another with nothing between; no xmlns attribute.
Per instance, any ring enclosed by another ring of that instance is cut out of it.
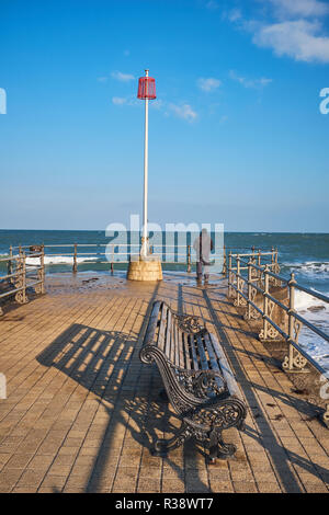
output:
<svg viewBox="0 0 329 515"><path fill-rule="evenodd" d="M0 227L328 232L329 3L1 0Z"/></svg>

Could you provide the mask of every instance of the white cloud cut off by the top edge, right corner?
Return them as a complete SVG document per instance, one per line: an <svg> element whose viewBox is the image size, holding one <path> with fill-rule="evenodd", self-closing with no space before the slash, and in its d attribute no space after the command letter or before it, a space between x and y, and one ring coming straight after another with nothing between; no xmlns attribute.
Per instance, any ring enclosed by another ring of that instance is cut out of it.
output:
<svg viewBox="0 0 329 515"><path fill-rule="evenodd" d="M309 18L322 16L329 12L329 5L319 0L268 0L280 16Z"/></svg>

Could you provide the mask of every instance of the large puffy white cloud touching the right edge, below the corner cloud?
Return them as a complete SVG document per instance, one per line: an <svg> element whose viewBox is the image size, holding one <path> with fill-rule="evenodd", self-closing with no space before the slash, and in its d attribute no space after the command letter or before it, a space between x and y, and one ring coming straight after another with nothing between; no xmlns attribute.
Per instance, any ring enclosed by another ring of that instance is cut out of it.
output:
<svg viewBox="0 0 329 515"><path fill-rule="evenodd" d="M262 26L254 35L258 46L272 48L277 56L302 61L329 62L329 37L317 21L285 21Z"/></svg>

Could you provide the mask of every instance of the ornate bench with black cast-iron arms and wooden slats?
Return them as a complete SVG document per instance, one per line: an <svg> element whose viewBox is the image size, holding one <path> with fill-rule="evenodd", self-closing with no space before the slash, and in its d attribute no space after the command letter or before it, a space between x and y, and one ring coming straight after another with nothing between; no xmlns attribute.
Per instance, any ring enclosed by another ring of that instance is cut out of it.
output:
<svg viewBox="0 0 329 515"><path fill-rule="evenodd" d="M208 442L209 460L215 462L235 454L236 446L225 443L222 432L242 430L247 410L222 346L201 320L178 314L163 301L154 302L139 357L157 364L181 419L178 433L158 439L152 453L166 456L193 436Z"/></svg>

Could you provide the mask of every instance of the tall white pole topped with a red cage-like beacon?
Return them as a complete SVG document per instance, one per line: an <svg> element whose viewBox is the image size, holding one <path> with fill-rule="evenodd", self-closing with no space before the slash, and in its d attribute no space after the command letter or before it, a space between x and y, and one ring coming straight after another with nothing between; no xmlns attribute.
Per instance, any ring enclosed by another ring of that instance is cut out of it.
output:
<svg viewBox="0 0 329 515"><path fill-rule="evenodd" d="M144 203L143 203L143 237L140 256L148 255L148 232L147 232L147 193L148 193L148 101L156 99L156 80L148 77L148 70L145 70L145 77L138 81L137 98L145 100L145 141L144 141Z"/></svg>

